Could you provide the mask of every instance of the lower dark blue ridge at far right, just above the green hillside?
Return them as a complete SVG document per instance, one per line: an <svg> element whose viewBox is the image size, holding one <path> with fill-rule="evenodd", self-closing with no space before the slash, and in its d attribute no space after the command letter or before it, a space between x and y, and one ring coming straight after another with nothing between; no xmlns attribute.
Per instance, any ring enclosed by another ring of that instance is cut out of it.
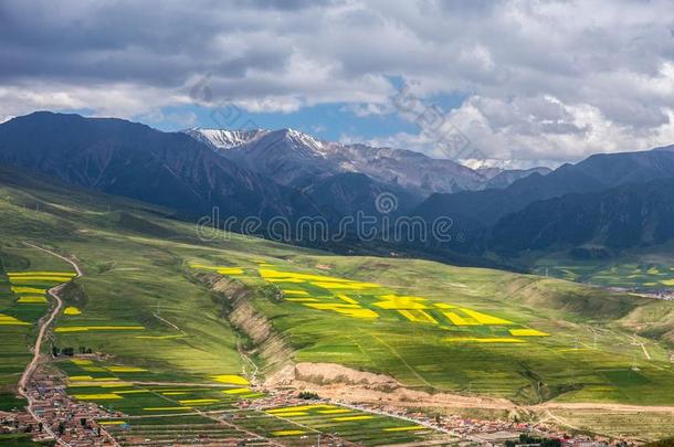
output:
<svg viewBox="0 0 674 447"><path fill-rule="evenodd" d="M674 178L572 193L530 203L501 219L489 247L506 256L591 244L608 251L674 238Z"/></svg>

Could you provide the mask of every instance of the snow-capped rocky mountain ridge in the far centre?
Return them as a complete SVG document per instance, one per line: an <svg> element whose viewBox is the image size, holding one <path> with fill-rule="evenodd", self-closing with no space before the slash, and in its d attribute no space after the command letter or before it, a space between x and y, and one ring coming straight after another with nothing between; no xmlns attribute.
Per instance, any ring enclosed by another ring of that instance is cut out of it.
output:
<svg viewBox="0 0 674 447"><path fill-rule="evenodd" d="M306 188L340 173L361 173L373 180L428 196L434 192L457 192L502 188L533 170L481 172L452 160L423 153L366 145L343 145L316 139L295 129L220 130L192 128L185 131L207 142L224 158L289 187ZM506 175L499 177L501 173ZM495 177L498 180L493 181Z"/></svg>

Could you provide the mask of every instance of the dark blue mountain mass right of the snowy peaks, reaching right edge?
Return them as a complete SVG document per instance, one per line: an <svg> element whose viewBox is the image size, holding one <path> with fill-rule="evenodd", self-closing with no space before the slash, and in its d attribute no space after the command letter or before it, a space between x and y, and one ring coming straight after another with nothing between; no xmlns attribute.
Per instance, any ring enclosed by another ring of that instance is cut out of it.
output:
<svg viewBox="0 0 674 447"><path fill-rule="evenodd" d="M496 252L512 259L587 243L620 249L672 238L663 216L670 215L673 179L672 146L594 155L499 190L433 194L411 214L425 222L452 216L455 231L465 235L452 248L480 255Z"/></svg>

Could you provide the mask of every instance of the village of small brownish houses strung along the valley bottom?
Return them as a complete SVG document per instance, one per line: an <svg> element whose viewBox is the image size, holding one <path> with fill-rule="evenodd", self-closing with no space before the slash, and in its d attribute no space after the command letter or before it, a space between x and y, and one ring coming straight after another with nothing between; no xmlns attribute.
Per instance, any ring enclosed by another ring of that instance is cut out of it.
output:
<svg viewBox="0 0 674 447"><path fill-rule="evenodd" d="M307 400L301 398L294 390L270 391L264 390L267 395L255 401L240 401L240 411L259 409L264 411L270 407L306 404ZM107 412L102 406L94 403L78 402L66 394L63 375L48 368L39 368L28 383L27 395L32 405L30 411L15 411L11 413L0 413L0 433L2 434L30 434L34 441L52 443L62 446L85 447L85 446L118 446L119 444L104 426L97 423L99 419L122 418L120 413ZM324 400L312 400L312 403L325 403ZM486 421L467 418L459 415L429 415L422 412L406 412L393 406L373 405L340 405L354 408L408 419L415 424L423 425L430 429L444 434L444 441L429 441L424 445L481 445L499 446L506 441L519 439L522 434L531 437L559 439L560 446L573 447L599 447L609 445L605 439L593 439L588 436L571 436L547 424L517 423L508 421ZM213 415L223 421L233 421L235 424L236 409L220 412ZM199 444L209 444L208 434L198 436ZM451 439L451 441L449 441ZM254 444L264 443L262 437L256 439L242 438L239 445L245 445L246 440ZM144 439L143 445L181 445L172 443L171 439L161 439L160 443L152 443L151 439ZM274 443L277 444L277 443ZM336 436L325 434L324 445L349 445ZM217 445L217 444L214 444Z"/></svg>

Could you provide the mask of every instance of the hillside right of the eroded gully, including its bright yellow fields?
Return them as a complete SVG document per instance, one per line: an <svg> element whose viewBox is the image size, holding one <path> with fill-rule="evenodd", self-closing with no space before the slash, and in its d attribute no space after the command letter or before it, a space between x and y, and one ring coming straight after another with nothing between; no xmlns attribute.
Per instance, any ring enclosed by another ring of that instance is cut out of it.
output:
<svg viewBox="0 0 674 447"><path fill-rule="evenodd" d="M597 311L626 313L631 298L607 297L586 317L573 309L581 298L576 286L552 279L377 258L256 263L191 267L253 287L271 284L282 298L255 304L288 336L299 362L335 362L385 372L419 390L522 403L668 402L657 391L671 387L667 351L596 319ZM518 296L497 285L515 286Z"/></svg>

